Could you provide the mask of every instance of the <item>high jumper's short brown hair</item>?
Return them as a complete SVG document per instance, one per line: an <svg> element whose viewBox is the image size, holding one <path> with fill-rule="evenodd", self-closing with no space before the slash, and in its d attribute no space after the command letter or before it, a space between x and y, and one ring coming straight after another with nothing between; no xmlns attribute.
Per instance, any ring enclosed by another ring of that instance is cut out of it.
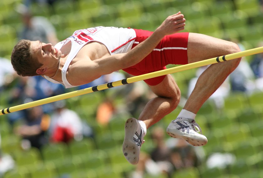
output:
<svg viewBox="0 0 263 178"><path fill-rule="evenodd" d="M30 40L22 39L15 45L11 54L13 68L20 76L38 76L36 70L42 66L34 59L30 45Z"/></svg>

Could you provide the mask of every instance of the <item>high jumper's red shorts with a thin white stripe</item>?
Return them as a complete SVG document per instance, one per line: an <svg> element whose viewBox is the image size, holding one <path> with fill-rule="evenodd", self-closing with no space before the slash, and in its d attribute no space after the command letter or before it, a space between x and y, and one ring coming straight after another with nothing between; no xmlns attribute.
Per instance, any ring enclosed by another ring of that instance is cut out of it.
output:
<svg viewBox="0 0 263 178"><path fill-rule="evenodd" d="M134 29L136 32L135 42L142 42L153 32ZM123 69L127 73L139 76L154 71L166 69L168 64L188 64L187 43L188 32L175 33L165 36L156 48L147 55L141 62ZM137 44L133 44L134 48ZM144 80L148 85L157 85L162 82L165 76L159 76Z"/></svg>

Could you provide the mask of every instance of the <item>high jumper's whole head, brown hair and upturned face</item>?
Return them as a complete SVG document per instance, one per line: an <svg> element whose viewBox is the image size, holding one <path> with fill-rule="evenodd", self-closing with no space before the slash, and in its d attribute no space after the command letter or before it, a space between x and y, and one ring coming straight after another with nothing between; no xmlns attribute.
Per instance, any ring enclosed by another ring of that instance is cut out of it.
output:
<svg viewBox="0 0 263 178"><path fill-rule="evenodd" d="M21 76L52 76L58 69L60 57L61 51L50 43L22 39L12 51L11 63Z"/></svg>

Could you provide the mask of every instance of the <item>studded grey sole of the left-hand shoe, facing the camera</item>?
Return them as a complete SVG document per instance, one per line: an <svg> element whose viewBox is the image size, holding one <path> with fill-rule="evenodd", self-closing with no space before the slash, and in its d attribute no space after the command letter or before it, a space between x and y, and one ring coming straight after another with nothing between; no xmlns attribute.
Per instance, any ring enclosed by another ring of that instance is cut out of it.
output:
<svg viewBox="0 0 263 178"><path fill-rule="evenodd" d="M122 144L122 152L127 161L136 165L139 162L140 149L133 141L138 124L136 118L129 118L125 123L125 137Z"/></svg>

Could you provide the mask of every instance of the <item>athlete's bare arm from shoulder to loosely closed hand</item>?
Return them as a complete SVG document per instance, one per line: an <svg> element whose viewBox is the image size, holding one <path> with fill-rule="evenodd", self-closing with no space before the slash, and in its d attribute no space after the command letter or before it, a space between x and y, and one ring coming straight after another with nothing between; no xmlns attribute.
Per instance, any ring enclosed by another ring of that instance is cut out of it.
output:
<svg viewBox="0 0 263 178"><path fill-rule="evenodd" d="M74 68L77 70L72 71L76 77L71 84L82 85L102 75L137 64L152 52L165 35L174 34L184 29L185 18L183 17L181 12L168 16L149 38L125 54L111 55L91 62L81 60L75 64Z"/></svg>

